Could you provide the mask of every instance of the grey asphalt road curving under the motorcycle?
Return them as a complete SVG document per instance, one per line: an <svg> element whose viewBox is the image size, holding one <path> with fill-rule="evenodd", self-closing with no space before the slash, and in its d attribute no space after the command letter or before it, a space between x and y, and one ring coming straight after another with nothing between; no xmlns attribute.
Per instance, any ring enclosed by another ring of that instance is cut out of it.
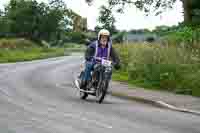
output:
<svg viewBox="0 0 200 133"><path fill-rule="evenodd" d="M200 133L200 117L107 96L81 101L80 56L0 65L0 133ZM113 88L114 89L114 88Z"/></svg>

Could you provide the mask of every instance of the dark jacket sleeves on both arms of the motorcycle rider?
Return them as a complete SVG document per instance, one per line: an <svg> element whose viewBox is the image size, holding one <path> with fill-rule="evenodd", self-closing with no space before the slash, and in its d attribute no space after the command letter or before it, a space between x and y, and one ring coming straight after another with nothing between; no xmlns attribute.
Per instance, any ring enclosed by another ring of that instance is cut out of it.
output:
<svg viewBox="0 0 200 133"><path fill-rule="evenodd" d="M100 47L100 44L98 44L98 47ZM96 41L90 43L90 45L87 47L87 50L85 52L85 60L91 61L92 57L95 55L95 50L96 50ZM110 49L110 57L112 61L114 62L115 66L120 65L120 59L119 56L117 55L117 52L111 45Z"/></svg>

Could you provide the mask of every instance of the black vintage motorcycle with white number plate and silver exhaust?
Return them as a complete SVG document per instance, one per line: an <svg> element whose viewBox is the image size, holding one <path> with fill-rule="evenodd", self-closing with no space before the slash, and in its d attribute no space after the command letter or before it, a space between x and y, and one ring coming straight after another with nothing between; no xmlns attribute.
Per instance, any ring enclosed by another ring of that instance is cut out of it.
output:
<svg viewBox="0 0 200 133"><path fill-rule="evenodd" d="M86 99L88 95L96 97L98 103L102 103L109 87L111 80L113 63L110 60L104 58L94 58L97 63L91 72L91 80L87 83L86 89L80 89L81 77L84 74L84 70L81 71L74 83L79 90L80 98Z"/></svg>

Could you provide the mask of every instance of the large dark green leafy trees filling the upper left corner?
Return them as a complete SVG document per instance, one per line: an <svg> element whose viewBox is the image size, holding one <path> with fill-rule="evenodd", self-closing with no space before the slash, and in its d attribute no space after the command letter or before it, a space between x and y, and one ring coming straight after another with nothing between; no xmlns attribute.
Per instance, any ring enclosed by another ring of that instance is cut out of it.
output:
<svg viewBox="0 0 200 133"><path fill-rule="evenodd" d="M62 6L60 6L62 5ZM36 0L11 0L0 17L0 33L12 33L31 40L59 40L70 25L64 2L50 4Z"/></svg>

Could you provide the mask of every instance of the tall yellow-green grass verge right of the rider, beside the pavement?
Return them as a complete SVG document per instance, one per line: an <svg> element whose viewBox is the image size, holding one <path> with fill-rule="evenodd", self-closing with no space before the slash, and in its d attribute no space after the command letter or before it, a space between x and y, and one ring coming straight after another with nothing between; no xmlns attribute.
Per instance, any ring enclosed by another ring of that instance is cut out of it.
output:
<svg viewBox="0 0 200 133"><path fill-rule="evenodd" d="M119 44L116 48L130 83L181 93L190 90L200 96L200 54L194 49L159 44Z"/></svg>

